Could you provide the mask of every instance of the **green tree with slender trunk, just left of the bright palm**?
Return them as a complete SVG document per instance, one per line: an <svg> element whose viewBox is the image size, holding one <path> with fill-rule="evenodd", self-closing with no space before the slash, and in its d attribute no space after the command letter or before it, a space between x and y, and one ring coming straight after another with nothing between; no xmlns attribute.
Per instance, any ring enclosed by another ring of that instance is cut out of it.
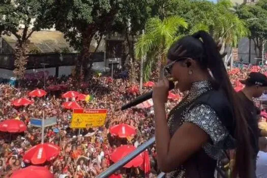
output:
<svg viewBox="0 0 267 178"><path fill-rule="evenodd" d="M146 21L151 17L151 3L150 0L124 0L123 8L118 13L115 24L111 28L113 32L120 33L125 37L122 65L125 64L125 60L130 61L129 73L133 83L138 76L135 68L134 44L144 29Z"/></svg>

